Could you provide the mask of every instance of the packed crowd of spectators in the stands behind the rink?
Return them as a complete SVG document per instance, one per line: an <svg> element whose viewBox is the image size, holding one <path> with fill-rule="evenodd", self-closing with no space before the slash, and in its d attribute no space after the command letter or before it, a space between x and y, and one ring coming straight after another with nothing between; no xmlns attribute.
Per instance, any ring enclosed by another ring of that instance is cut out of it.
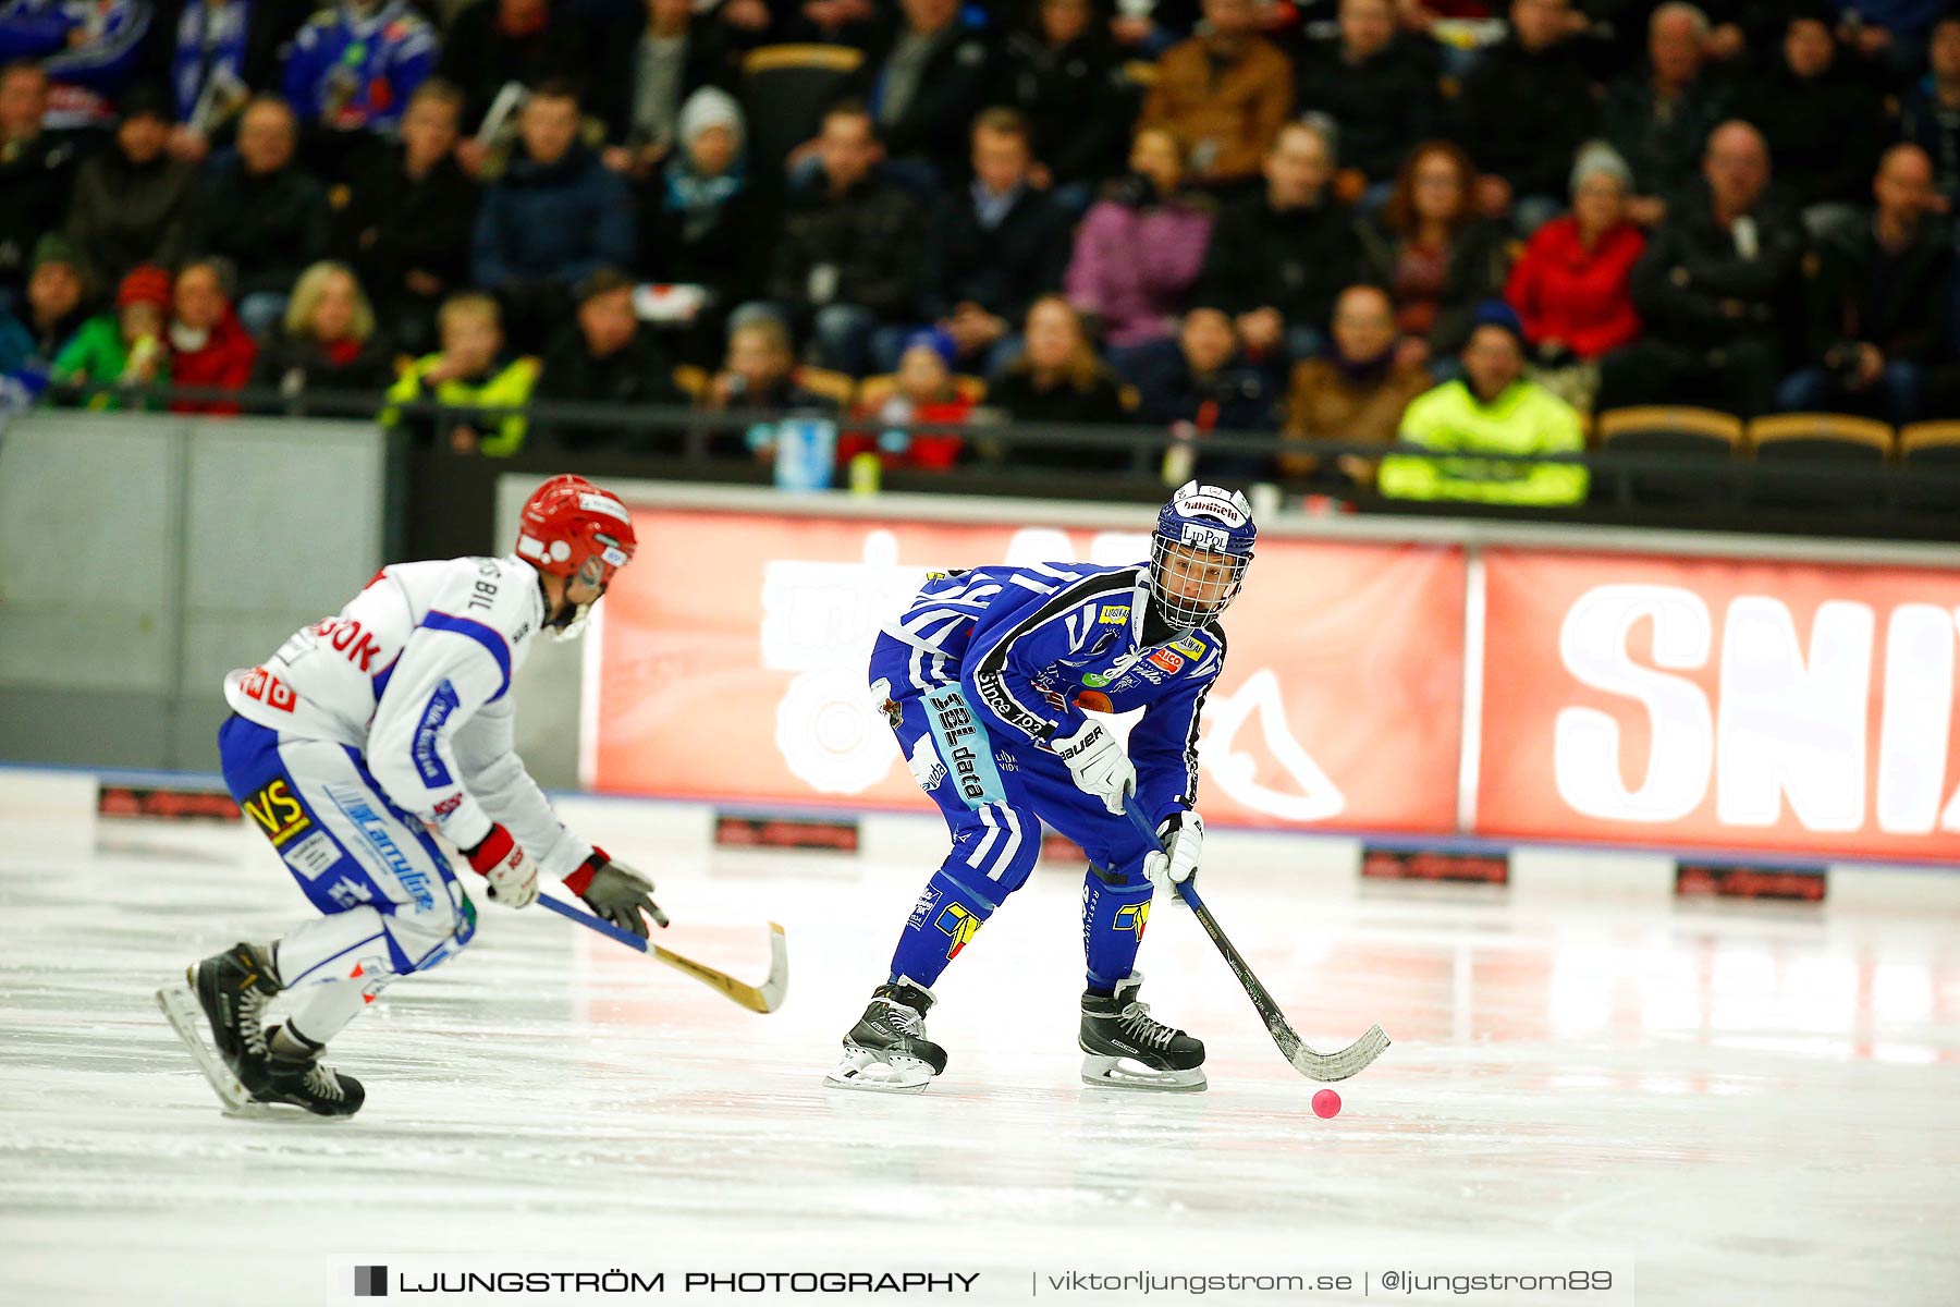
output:
<svg viewBox="0 0 1960 1307"><path fill-rule="evenodd" d="M1942 0L0 0L0 65L45 402L361 392L490 457L633 439L533 400L729 457L827 410L935 470L980 445L909 423L1270 431L1205 470L1511 504L1586 472L1315 445L1960 417Z"/></svg>

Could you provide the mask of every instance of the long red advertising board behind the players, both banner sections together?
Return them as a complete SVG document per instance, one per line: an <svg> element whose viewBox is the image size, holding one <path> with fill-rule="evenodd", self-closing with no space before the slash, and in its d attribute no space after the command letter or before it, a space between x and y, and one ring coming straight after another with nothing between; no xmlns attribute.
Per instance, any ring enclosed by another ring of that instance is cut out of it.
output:
<svg viewBox="0 0 1960 1307"><path fill-rule="evenodd" d="M643 557L682 564L629 568L608 596L580 780L764 809L917 803L864 664L925 570L1131 560L1149 527L925 496L625 494ZM1280 519L1225 623L1207 819L1960 860L1950 555L1605 539Z"/></svg>

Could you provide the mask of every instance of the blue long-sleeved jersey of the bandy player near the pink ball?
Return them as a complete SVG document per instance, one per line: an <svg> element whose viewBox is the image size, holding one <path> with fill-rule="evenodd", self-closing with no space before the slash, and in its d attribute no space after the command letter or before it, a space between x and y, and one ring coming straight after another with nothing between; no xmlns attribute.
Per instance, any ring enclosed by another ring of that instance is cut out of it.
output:
<svg viewBox="0 0 1960 1307"><path fill-rule="evenodd" d="M1082 709L1143 709L1131 729L1137 798L1151 823L1198 801L1198 717L1225 666L1225 631L1158 631L1149 568L1037 562L939 572L886 627L909 653L894 696L958 680L996 741L1045 747ZM1152 627L1147 631L1147 627Z"/></svg>

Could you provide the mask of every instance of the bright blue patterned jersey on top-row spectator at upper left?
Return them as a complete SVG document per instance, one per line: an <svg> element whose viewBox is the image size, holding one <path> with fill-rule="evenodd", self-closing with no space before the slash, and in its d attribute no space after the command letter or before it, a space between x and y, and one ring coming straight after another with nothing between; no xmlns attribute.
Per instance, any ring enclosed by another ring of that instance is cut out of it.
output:
<svg viewBox="0 0 1960 1307"><path fill-rule="evenodd" d="M294 37L286 100L325 127L392 129L433 69L435 29L406 0L367 18L341 4L314 14Z"/></svg>

